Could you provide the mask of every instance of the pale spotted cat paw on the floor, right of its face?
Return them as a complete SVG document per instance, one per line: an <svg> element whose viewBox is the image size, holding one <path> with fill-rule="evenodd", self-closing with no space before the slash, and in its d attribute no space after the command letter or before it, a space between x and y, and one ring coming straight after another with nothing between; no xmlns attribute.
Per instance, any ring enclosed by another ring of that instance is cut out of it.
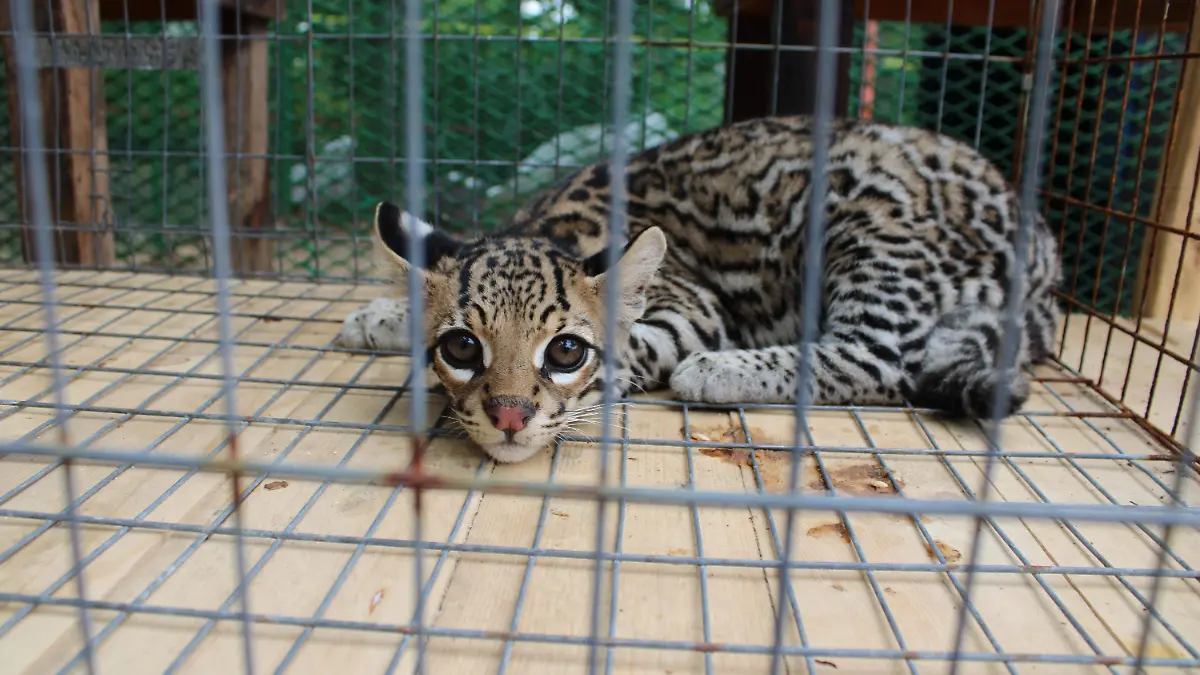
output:
<svg viewBox="0 0 1200 675"><path fill-rule="evenodd" d="M785 380L746 352L697 352L676 366L671 389L685 401L706 404L787 402L794 392Z"/></svg>

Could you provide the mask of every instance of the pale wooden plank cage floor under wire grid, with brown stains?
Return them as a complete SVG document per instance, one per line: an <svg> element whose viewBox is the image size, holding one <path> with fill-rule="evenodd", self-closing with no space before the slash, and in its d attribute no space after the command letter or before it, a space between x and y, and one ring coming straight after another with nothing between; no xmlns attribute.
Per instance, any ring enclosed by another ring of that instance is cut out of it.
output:
<svg viewBox="0 0 1200 675"><path fill-rule="evenodd" d="M52 372L36 274L0 270L0 441L66 440L94 453L228 458L221 422L215 285L120 273L59 276L67 435L52 425ZM379 287L236 282L238 453L290 466L400 471L409 443L407 360L329 350L338 322ZM1103 335L1102 335L1103 339ZM815 410L805 490L851 496L1027 503L1166 503L1168 450L1114 416L1078 377L1044 368L1002 430L984 485L980 428L912 410ZM1164 377L1170 374L1164 375ZM440 405L430 401L431 422ZM790 455L721 447L791 444L787 407L623 408L608 452L614 484L730 495L780 492ZM598 446L564 442L509 466L436 438L426 471L594 485ZM258 671L409 673L421 568L428 673L587 671L601 510L588 498L426 490L414 557L410 490L271 474L67 465L0 455L0 673L79 671L80 604L106 673L240 670L236 546L246 528L248 623ZM83 516L80 577L64 522L66 477ZM1194 503L1196 478L1183 479ZM599 587L613 673L766 673L781 598L787 514L734 506L607 502ZM224 528L214 532L214 528ZM782 596L788 673L944 673L964 604L973 521L955 515L802 512ZM1154 526L990 519L964 613L960 673L1132 673L1163 531ZM1146 656L1194 673L1200 532L1170 533ZM80 602L79 592L86 593Z"/></svg>

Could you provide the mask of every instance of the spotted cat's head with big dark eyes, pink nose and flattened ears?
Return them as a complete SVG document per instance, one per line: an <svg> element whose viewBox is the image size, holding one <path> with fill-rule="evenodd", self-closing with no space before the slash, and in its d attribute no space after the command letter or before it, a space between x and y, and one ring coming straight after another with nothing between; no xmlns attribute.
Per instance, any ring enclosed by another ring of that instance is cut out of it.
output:
<svg viewBox="0 0 1200 675"><path fill-rule="evenodd" d="M578 261L528 238L463 244L384 203L376 246L401 276L410 227L426 232L428 363L470 438L497 461L521 461L595 419L608 348L601 257ZM665 251L650 229L620 259L620 345Z"/></svg>

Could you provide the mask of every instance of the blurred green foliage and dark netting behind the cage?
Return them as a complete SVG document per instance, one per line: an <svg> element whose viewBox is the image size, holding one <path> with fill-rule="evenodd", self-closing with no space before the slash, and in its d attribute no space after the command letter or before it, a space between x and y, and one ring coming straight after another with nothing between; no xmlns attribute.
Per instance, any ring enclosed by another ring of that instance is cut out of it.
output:
<svg viewBox="0 0 1200 675"><path fill-rule="evenodd" d="M403 4L312 0L310 16L307 0L283 1L287 19L270 32L271 217L287 234L277 271L370 274L373 204L403 196ZM727 25L713 5L635 4L631 121L622 130L635 148L722 121ZM606 2L426 2L431 219L458 232L493 228L532 191L606 154L614 133L611 23ZM103 31L161 35L163 26L106 23ZM188 23L166 31L196 35ZM850 114L938 129L1010 172L1027 38L1014 29L859 23ZM1132 31L1058 38L1057 56L1075 61L1056 68L1051 85L1046 189L1150 215L1180 61L1076 61L1183 50L1181 35L1158 41ZM106 71L104 82L119 258L137 268L208 270L198 73ZM7 114L0 108L5 137ZM1061 199L1046 214L1063 232L1068 277L1079 269L1075 276L1092 286L1094 276L1096 305L1127 310L1133 283L1117 297L1115 280L1136 264L1142 226L1109 217L1105 227L1103 211ZM0 162L0 219L18 220L11 161ZM17 231L0 229L0 263L20 263L20 255Z"/></svg>

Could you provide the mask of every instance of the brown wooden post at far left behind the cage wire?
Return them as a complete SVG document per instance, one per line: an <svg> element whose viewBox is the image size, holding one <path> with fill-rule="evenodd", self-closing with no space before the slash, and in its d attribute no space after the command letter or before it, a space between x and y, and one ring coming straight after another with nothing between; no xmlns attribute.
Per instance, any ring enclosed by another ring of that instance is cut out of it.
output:
<svg viewBox="0 0 1200 675"><path fill-rule="evenodd" d="M100 7L95 0L52 0L35 4L38 32L100 35ZM12 30L8 0L0 0L0 29ZM20 101L17 62L12 40L4 40L8 77L8 109L13 145L20 144ZM55 223L72 223L60 232L55 261L84 267L107 267L115 262L109 192L108 126L104 120L104 82L101 70L47 68L38 78L42 115L46 121L44 147L50 184L50 214ZM16 154L17 195L23 220L28 197L24 195L23 157ZM26 227L22 239L25 258L32 261L32 232Z"/></svg>

